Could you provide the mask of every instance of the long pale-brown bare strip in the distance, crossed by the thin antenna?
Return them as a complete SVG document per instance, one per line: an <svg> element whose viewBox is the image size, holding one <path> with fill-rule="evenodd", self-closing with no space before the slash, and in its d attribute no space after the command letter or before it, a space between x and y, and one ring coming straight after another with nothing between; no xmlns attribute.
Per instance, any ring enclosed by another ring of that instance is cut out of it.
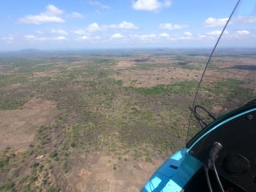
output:
<svg viewBox="0 0 256 192"><path fill-rule="evenodd" d="M218 82L220 79L235 78L242 80L248 74L246 70L206 72L207 82ZM122 70L114 74L113 78L122 80L123 86L151 87L158 84L170 84L182 81L198 81L201 78L201 70L188 70L182 68L158 68L154 70Z"/></svg>

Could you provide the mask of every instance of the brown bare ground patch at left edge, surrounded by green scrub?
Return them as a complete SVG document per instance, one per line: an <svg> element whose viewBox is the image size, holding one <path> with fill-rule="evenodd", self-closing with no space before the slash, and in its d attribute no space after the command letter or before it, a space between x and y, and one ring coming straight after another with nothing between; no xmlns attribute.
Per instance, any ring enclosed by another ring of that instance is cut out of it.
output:
<svg viewBox="0 0 256 192"><path fill-rule="evenodd" d="M49 125L58 114L54 102L33 98L21 110L0 110L0 150L9 146L26 150L38 126Z"/></svg>

